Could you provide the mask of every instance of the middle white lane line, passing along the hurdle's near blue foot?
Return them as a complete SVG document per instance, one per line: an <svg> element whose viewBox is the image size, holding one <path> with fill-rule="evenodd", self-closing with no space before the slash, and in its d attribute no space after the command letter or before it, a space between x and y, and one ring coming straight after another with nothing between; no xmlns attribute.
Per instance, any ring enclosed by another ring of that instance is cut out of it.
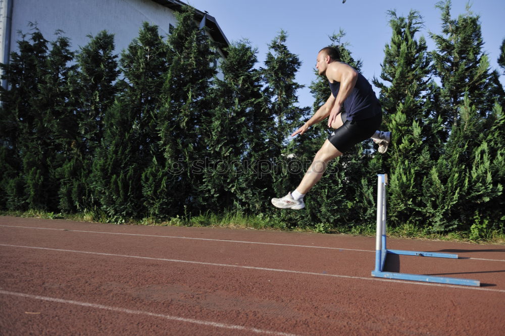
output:
<svg viewBox="0 0 505 336"><path fill-rule="evenodd" d="M106 256L123 257L123 258L135 258L135 259L147 259L147 260L180 262L180 263L206 265L206 266L234 267L234 268L244 268L244 269L273 271L273 272L284 272L284 273L295 273L295 274L308 274L308 275L318 275L318 276L331 276L331 277L341 277L341 278L347 278L347 279L360 279L360 280L367 280L367 281L381 281L381 282L387 282L387 283L393 282L393 283L401 283L401 284L409 284L409 285L451 287L451 288L459 288L459 289L467 289L467 290L477 290L477 291L489 291L489 292L505 293L505 290L482 288L482 287L467 287L467 286L445 285L445 284L417 283L417 282L402 281L402 280L395 280L395 279L381 279L381 278L376 278L376 277L363 277L363 276L352 276L352 275L316 273L316 272L296 271L296 270L289 270L289 269L255 267L255 266L243 266L243 265L231 265L231 264L219 264L219 263L203 262L203 261L166 259L166 258L154 258L154 257L141 257L141 256L136 256L136 255L125 255L125 254L115 254L115 253L102 253L102 252L64 250L64 249L54 249L54 248L37 247L37 246L21 246L21 245L10 245L10 244L0 244L0 246L17 247L17 248L25 248L25 249L37 249L37 250L48 250L48 251L84 253L84 254L94 254L94 255L106 255Z"/></svg>

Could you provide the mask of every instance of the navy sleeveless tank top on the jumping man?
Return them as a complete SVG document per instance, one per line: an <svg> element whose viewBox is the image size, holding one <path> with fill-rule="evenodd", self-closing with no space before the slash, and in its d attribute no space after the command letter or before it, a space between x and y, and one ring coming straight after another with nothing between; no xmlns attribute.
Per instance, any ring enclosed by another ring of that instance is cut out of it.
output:
<svg viewBox="0 0 505 336"><path fill-rule="evenodd" d="M334 97L340 90L340 82L329 82ZM351 93L344 100L344 109L348 120L364 120L375 117L381 112L379 100L375 96L372 85L362 74L358 73L358 80Z"/></svg>

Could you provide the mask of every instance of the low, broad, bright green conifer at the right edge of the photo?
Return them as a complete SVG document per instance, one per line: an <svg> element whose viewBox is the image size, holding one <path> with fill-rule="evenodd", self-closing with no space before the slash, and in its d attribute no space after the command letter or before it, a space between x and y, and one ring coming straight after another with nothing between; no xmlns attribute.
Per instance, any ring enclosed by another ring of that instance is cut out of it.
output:
<svg viewBox="0 0 505 336"><path fill-rule="evenodd" d="M464 97L460 120L422 184L425 218L432 230L473 228L478 238L479 229L486 226L503 228L505 217L497 211L504 204L503 123L498 104L484 119L469 96Z"/></svg>

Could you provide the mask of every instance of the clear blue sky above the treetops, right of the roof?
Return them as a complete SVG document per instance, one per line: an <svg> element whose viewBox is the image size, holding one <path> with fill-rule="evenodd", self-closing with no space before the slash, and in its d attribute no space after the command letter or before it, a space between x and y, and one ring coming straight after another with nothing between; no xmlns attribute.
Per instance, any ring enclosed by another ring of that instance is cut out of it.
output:
<svg viewBox="0 0 505 336"><path fill-rule="evenodd" d="M258 60L263 66L268 52L267 44L283 29L288 33L287 46L298 55L302 66L296 80L309 86L315 79L313 69L319 49L330 43L329 35L343 29L343 41L355 59L363 61L362 73L371 79L379 77L384 58L384 45L391 39L388 10L396 10L398 16L407 16L411 9L423 16L423 35L428 49L435 45L429 32L440 33L440 10L436 0L188 0L200 11L208 11L219 23L230 42L248 39L258 48ZM451 16L457 18L466 13L467 0L453 0ZM501 41L505 38L505 1L478 0L470 2L471 11L480 16L484 51L489 55L491 69L498 68L497 58ZM500 70L500 73L502 71ZM505 76L501 76L505 85ZM378 90L376 89L378 95ZM308 87L298 91L300 106L312 106L313 97Z"/></svg>

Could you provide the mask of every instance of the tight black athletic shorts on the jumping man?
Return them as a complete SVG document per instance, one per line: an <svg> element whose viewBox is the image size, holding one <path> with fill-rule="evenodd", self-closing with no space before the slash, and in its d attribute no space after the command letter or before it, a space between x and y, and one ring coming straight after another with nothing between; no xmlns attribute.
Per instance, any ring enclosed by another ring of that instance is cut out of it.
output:
<svg viewBox="0 0 505 336"><path fill-rule="evenodd" d="M333 131L328 140L342 153L348 151L357 143L369 139L382 123L382 112L372 118L353 121L347 120L345 112L340 115L343 125Z"/></svg>

